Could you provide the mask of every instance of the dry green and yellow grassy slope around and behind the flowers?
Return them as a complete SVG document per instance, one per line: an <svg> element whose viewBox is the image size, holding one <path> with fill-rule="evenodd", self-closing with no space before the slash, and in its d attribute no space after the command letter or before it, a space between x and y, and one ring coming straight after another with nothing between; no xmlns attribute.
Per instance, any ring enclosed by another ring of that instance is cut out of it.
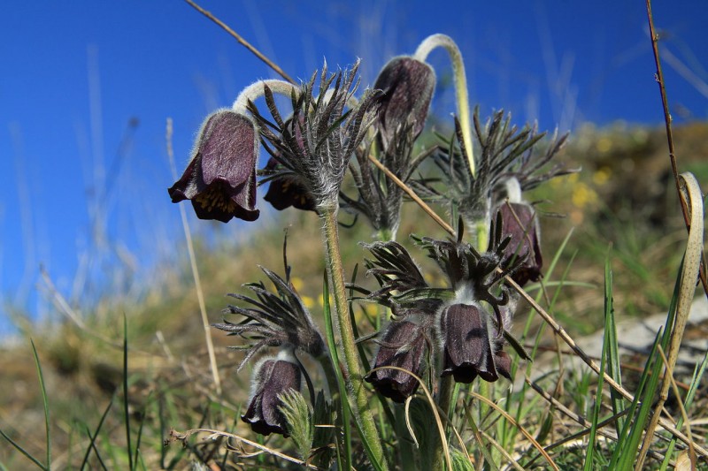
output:
<svg viewBox="0 0 708 471"><path fill-rule="evenodd" d="M701 133L696 126L677 129L674 138L690 149L689 140L704 141L708 137L708 126L703 125ZM530 355L540 358L544 350L556 347L562 352L558 352L555 363L545 365L544 376L537 373L535 362L514 361L516 378L529 375L545 396L528 383L510 390L508 383L500 381L489 388L489 399L510 414L518 426L494 407L473 399L472 393L479 391L478 383L470 391L460 391L462 399L454 405L454 416L459 420L453 425L475 463L485 462L490 469L506 468L512 466L508 458L512 456L520 467L545 466L540 451L519 431L520 426L548 450L561 469L632 468L642 443L643 425L656 399L663 363L656 347L646 356L621 356L617 346L621 339L612 327L628 316L671 312L675 303L671 286L681 264L686 232L676 204L667 203L669 209L661 215L661 224L656 224L646 211L633 213L635 201L631 195L618 202L622 186L631 177L624 175L621 168L608 165L619 161L620 155L639 162L640 154L651 155L652 149L659 159L662 153L652 143L661 132L609 129L581 133L578 142L566 149L566 156L571 161L581 160L584 171L577 180L561 182L536 195L539 200L552 201L542 208L567 217L542 220L546 278L543 286L531 292L573 337L605 328L603 356L598 364L636 400L622 398L589 368L561 373L566 355L572 353L567 353L568 347L556 341L535 313L521 311L516 316L514 332ZM612 156L612 148L597 150L597 142L607 140L617 148L618 156ZM686 167L696 171L699 181L708 181L708 166L689 150L685 156ZM597 171L605 168L609 169L608 179L597 183ZM658 179L666 162L647 163L646 169L646 179ZM594 192L596 200L576 205L573 192L578 187ZM657 201L675 203L671 191L672 187L667 186L664 198ZM220 311L227 305L225 293L238 291L242 283L262 279L257 264L281 267L281 228L288 224L293 225L289 247L298 247L289 252L293 277L303 280L298 292L312 300L313 309L327 309L318 302L324 271L318 258L319 220L312 214L286 212L278 224L263 229L241 246L224 243L213 250L204 244L197 247L210 322L221 320ZM405 209L399 233L410 232L441 238L444 235L412 205ZM365 255L357 242L369 240L370 233L365 222L359 222L353 230L342 230L348 273ZM312 240L318 243L311 243ZM290 466L268 453L239 457L231 448L238 448L235 441L225 437L204 440L206 436L200 434L164 445L165 440L170 441L171 429L203 428L241 435L267 449L297 455L288 440L254 438L240 422L239 414L249 390L249 371L245 368L240 374L235 373L241 353L228 350L231 339L219 332L213 337L224 392L219 396L214 391L189 265L185 259L163 270L169 272L169 277L165 277L169 282L156 278L153 292L140 302L107 294L95 313L83 316L83 327L57 316L50 325L24 326L23 341L3 347L0 368L4 385L12 386L4 387L0 396L2 467L182 469L195 462L220 466L236 460L262 468ZM353 312L359 312L358 308ZM360 336L373 330L364 315L357 314L355 319ZM39 338L41 342L37 341ZM664 351L666 341L667 337L658 338ZM362 354L371 357L371 342L359 346ZM680 390L682 396L677 400L689 419L707 414L706 364L708 360L696 365L689 375L676 378L688 387ZM637 378L631 374L628 366L643 368L641 375ZM340 393L344 395L344 391ZM373 393L371 398L376 402ZM378 423L384 427L390 422L389 417L404 415L397 408L386 411L377 406L375 410L380 411ZM348 412L346 408L340 411L345 423L349 423ZM685 430L677 408L674 406L670 412L676 420L675 428ZM696 444L704 444L705 425L694 425L692 431ZM355 430L345 428L344 433L352 438L344 441L348 444L344 450L336 452L340 452L342 467L349 467L359 443L354 438ZM578 435L573 441L564 442L575 434ZM403 432L389 430L384 435L390 440L386 446L403 445L396 443ZM660 435L664 440L652 444L647 462L650 468L669 467L678 452L686 448L673 434L662 431ZM454 436L450 444L457 444ZM411 444L407 446L414 450ZM453 456L455 462L458 458ZM699 466L706 467L706 462L700 461Z"/></svg>

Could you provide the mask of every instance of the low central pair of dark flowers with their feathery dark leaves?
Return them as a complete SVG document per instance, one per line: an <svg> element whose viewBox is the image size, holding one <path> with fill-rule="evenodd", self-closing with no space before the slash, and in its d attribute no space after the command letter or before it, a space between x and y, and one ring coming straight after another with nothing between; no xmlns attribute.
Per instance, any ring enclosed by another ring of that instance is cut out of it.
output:
<svg viewBox="0 0 708 471"><path fill-rule="evenodd" d="M498 217L491 229L493 238L483 253L461 237L414 237L447 276L445 288L427 285L400 244L377 242L366 246L374 256L366 261L368 273L381 289L360 291L394 313L381 334L373 372L366 377L382 395L403 402L418 388L418 381L409 373L385 367L404 368L419 377L428 368L429 376L435 377L435 365L442 364L441 376L451 375L458 383L471 383L477 376L489 382L500 375L511 379L511 357L503 348L505 337L510 335L516 299L501 282L522 269L527 257L507 256L512 237L501 239L502 227L502 218ZM526 358L526 353L521 355Z"/></svg>

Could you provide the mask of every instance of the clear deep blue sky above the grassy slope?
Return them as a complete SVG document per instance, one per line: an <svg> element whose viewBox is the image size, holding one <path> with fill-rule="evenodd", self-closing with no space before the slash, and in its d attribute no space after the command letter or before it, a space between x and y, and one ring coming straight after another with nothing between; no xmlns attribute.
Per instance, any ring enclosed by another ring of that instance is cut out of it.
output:
<svg viewBox="0 0 708 471"><path fill-rule="evenodd" d="M297 78L324 58L332 68L361 57L371 84L389 57L443 33L462 49L471 101L484 113L504 108L518 124L551 130L663 119L638 0L202 5ZM654 15L666 33L674 119L708 118L708 6L655 2ZM431 61L449 77L443 52ZM210 111L274 77L188 4L166 0L15 2L0 16L0 64L0 332L11 307L51 312L40 266L81 307L116 266L139 277L177 258L170 251L183 235L166 192L165 119L173 118L182 167ZM448 117L451 93L438 93L434 106Z"/></svg>

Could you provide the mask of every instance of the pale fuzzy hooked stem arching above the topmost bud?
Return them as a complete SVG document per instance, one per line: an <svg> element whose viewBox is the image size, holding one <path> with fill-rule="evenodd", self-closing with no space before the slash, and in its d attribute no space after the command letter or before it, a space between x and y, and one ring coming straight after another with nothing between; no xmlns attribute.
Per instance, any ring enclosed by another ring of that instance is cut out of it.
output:
<svg viewBox="0 0 708 471"><path fill-rule="evenodd" d="M462 140L467 151L467 160L470 164L470 172L475 176L474 152L472 147L472 121L470 119L470 101L467 96L467 76L465 63L462 60L462 53L458 45L446 34L433 34L420 43L413 57L420 61L425 61L427 56L438 47L444 48L450 62L452 62L452 74L455 77L455 97L458 102L458 118L462 128Z"/></svg>

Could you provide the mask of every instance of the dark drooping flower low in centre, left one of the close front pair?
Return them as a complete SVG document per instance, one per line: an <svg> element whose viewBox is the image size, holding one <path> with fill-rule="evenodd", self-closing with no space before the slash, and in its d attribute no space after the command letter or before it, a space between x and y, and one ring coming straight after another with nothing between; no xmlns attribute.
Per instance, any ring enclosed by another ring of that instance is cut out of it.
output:
<svg viewBox="0 0 708 471"><path fill-rule="evenodd" d="M419 325L409 321L394 321L383 334L373 368L398 367L421 376L426 338ZM418 390L419 382L400 369L382 368L366 376L376 391L395 402L404 402Z"/></svg>

